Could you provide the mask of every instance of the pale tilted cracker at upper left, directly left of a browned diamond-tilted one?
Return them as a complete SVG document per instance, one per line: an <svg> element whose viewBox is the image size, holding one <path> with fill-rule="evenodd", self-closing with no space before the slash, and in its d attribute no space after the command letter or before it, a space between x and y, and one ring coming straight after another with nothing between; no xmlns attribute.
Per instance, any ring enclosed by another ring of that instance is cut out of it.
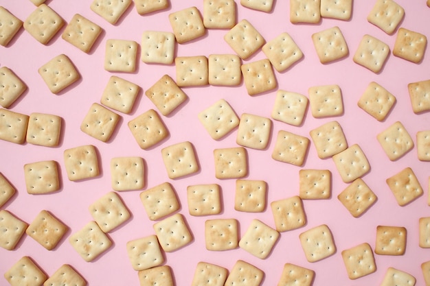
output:
<svg viewBox="0 0 430 286"><path fill-rule="evenodd" d="M133 109L140 86L112 75L104 88L100 103L114 110L129 114Z"/></svg>

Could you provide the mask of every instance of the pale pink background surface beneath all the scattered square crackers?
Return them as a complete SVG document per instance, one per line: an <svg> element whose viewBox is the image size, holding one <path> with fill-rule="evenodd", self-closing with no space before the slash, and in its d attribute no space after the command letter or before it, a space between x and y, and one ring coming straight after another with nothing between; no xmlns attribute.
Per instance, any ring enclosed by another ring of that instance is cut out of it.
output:
<svg viewBox="0 0 430 286"><path fill-rule="evenodd" d="M67 2L67 3L66 3ZM430 8L425 1L398 0L405 8L405 19L401 27L430 36L427 19ZM47 0L65 21L70 21L73 14L80 13L103 27L104 32L95 43L89 54L73 47L60 36L63 29L48 45L38 43L24 29L16 35L8 47L0 47L0 64L9 67L29 86L21 98L10 107L10 110L30 115L31 112L44 112L63 117L63 133L58 147L41 147L31 144L16 145L0 141L0 171L12 182L17 190L12 200L3 209L7 209L30 223L39 211L45 209L61 219L70 230L52 251L45 250L34 239L25 235L16 250L0 249L0 273L6 272L16 261L27 255L48 275L63 263L69 263L84 276L88 285L139 285L137 272L131 267L126 252L126 242L139 237L154 234L154 222L148 219L144 207L139 200L139 193L162 182L170 182L181 202L179 213L185 216L194 240L185 248L165 255L166 265L172 267L176 285L190 285L196 264L207 261L231 270L238 259L256 265L264 271L262 285L276 285L279 281L284 263L294 263L315 270L313 285L379 285L387 267L396 267L413 275L416 285L424 285L420 264L429 260L430 249L418 246L418 219L430 215L427 205L429 163L418 160L416 147L405 156L394 162L390 161L376 141L376 134L385 130L395 121L401 121L416 143L416 132L429 129L429 112L414 114L409 101L407 84L429 79L430 58L427 54L420 64L407 62L389 55L381 73L375 74L355 64L352 56L364 34L370 34L394 47L396 34L387 35L378 27L368 23L366 16L374 1L354 1L350 21L322 19L317 25L293 25L288 19L289 2L278 0L274 3L271 13L258 12L242 7L236 1L237 19L247 19L266 40L271 40L281 32L288 32L304 53L304 58L291 69L283 73L275 72L278 89L293 91L308 96L310 86L338 84L343 95L344 114L340 117L315 119L308 108L302 126L289 126L280 121L273 121L271 140L267 149L247 149L249 156L249 180L264 180L268 184L268 207L262 213L240 213L234 210L235 180L218 180L214 176L215 148L236 147L234 130L225 138L214 141L199 122L197 115L201 110L214 104L218 99L226 99L240 116L247 112L270 117L276 90L255 97L247 95L245 85L236 87L203 86L183 88L189 99L172 115L163 117L170 136L166 141L150 150L139 148L127 123L141 113L155 106L144 95L139 93L135 107L130 115L121 114L122 119L111 140L102 143L80 131L80 123L93 102L100 102L102 91L111 75L135 82L146 91L162 75L175 77L175 67L162 64L144 64L138 59L135 73L110 73L103 68L104 44L108 39L135 40L140 43L142 32L146 30L172 31L168 21L171 12L196 6L203 11L203 1L172 0L168 10L140 16L134 5L126 11L116 25L111 25L89 8L91 1L60 1ZM0 5L10 10L19 19L24 20L35 6L27 0L0 0ZM311 35L323 29L338 26L346 38L350 49L347 58L330 64L321 64L317 58ZM177 56L209 56L211 53L233 53L225 43L225 29L208 29L205 36L190 43L176 45ZM38 75L41 65L60 53L65 53L76 65L82 79L59 95L49 89ZM138 52L138 58L139 58ZM254 56L243 62L252 62L264 58L258 51ZM397 103L387 119L378 122L357 106L357 101L367 84L376 81L397 98ZM155 108L156 109L156 108ZM378 200L366 213L354 218L337 200L337 195L347 187L343 183L332 159L321 160L317 157L315 145L310 144L308 155L303 166L296 167L280 163L271 158L275 145L275 136L279 130L287 130L302 136L309 136L309 131L322 124L337 120L343 128L348 145L358 143L371 165L370 173L363 180L376 193ZM170 180L161 159L161 149L174 143L190 141L198 156L201 170L199 173L177 180ZM63 152L70 147L92 144L98 148L101 174L97 178L71 182L67 179L63 162ZM85 262L71 247L68 237L80 230L92 217L89 205L106 192L111 191L111 174L109 163L116 156L141 156L146 163L146 184L144 189L118 193L132 213L132 218L119 228L109 233L113 247L91 263ZM47 195L29 195L25 190L23 165L40 160L56 160L60 167L61 189ZM424 195L407 206L398 206L394 195L387 187L385 180L405 167L411 167L422 188ZM204 225L206 219L236 218L239 222L240 236L247 230L251 219L260 219L274 228L270 202L298 195L300 169L328 169L332 172L332 195L328 200L304 200L307 223L302 228L281 233L278 243L267 259L258 259L251 254L236 248L225 252L214 252L205 249ZM219 184L222 189L223 211L219 215L192 217L188 213L186 188L192 184ZM299 243L299 234L318 226L327 224L337 246L332 257L309 263ZM351 281L343 265L341 251L359 243L367 242L374 249L376 226L404 226L407 228L407 248L402 256L381 256L375 254L377 271L356 281ZM7 285L1 276L0 285Z"/></svg>

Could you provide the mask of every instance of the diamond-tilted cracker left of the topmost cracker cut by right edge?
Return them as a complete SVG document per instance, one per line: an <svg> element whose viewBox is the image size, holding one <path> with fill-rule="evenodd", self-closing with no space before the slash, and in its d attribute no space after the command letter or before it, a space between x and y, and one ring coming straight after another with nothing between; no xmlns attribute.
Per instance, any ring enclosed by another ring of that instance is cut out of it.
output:
<svg viewBox="0 0 430 286"><path fill-rule="evenodd" d="M383 121L396 100L396 97L383 86L376 82L370 82L357 104L359 108L372 115L376 120Z"/></svg>

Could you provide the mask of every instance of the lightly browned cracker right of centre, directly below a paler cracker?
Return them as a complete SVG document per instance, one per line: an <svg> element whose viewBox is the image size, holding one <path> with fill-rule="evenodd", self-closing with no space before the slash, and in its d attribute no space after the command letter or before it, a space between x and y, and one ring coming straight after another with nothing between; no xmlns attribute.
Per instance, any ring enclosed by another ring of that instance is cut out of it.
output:
<svg viewBox="0 0 430 286"><path fill-rule="evenodd" d="M309 139L280 130L273 148L272 158L280 162L302 166L308 152Z"/></svg>

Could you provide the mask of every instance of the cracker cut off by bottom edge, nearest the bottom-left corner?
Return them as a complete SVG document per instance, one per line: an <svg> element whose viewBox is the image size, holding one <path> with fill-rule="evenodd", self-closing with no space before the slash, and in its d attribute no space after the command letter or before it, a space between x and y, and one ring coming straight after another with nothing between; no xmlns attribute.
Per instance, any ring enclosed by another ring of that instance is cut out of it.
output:
<svg viewBox="0 0 430 286"><path fill-rule="evenodd" d="M19 261L16 261L16 263L5 272L4 277L11 286L40 286L48 278L45 272L43 272L30 257L21 257Z"/></svg>

